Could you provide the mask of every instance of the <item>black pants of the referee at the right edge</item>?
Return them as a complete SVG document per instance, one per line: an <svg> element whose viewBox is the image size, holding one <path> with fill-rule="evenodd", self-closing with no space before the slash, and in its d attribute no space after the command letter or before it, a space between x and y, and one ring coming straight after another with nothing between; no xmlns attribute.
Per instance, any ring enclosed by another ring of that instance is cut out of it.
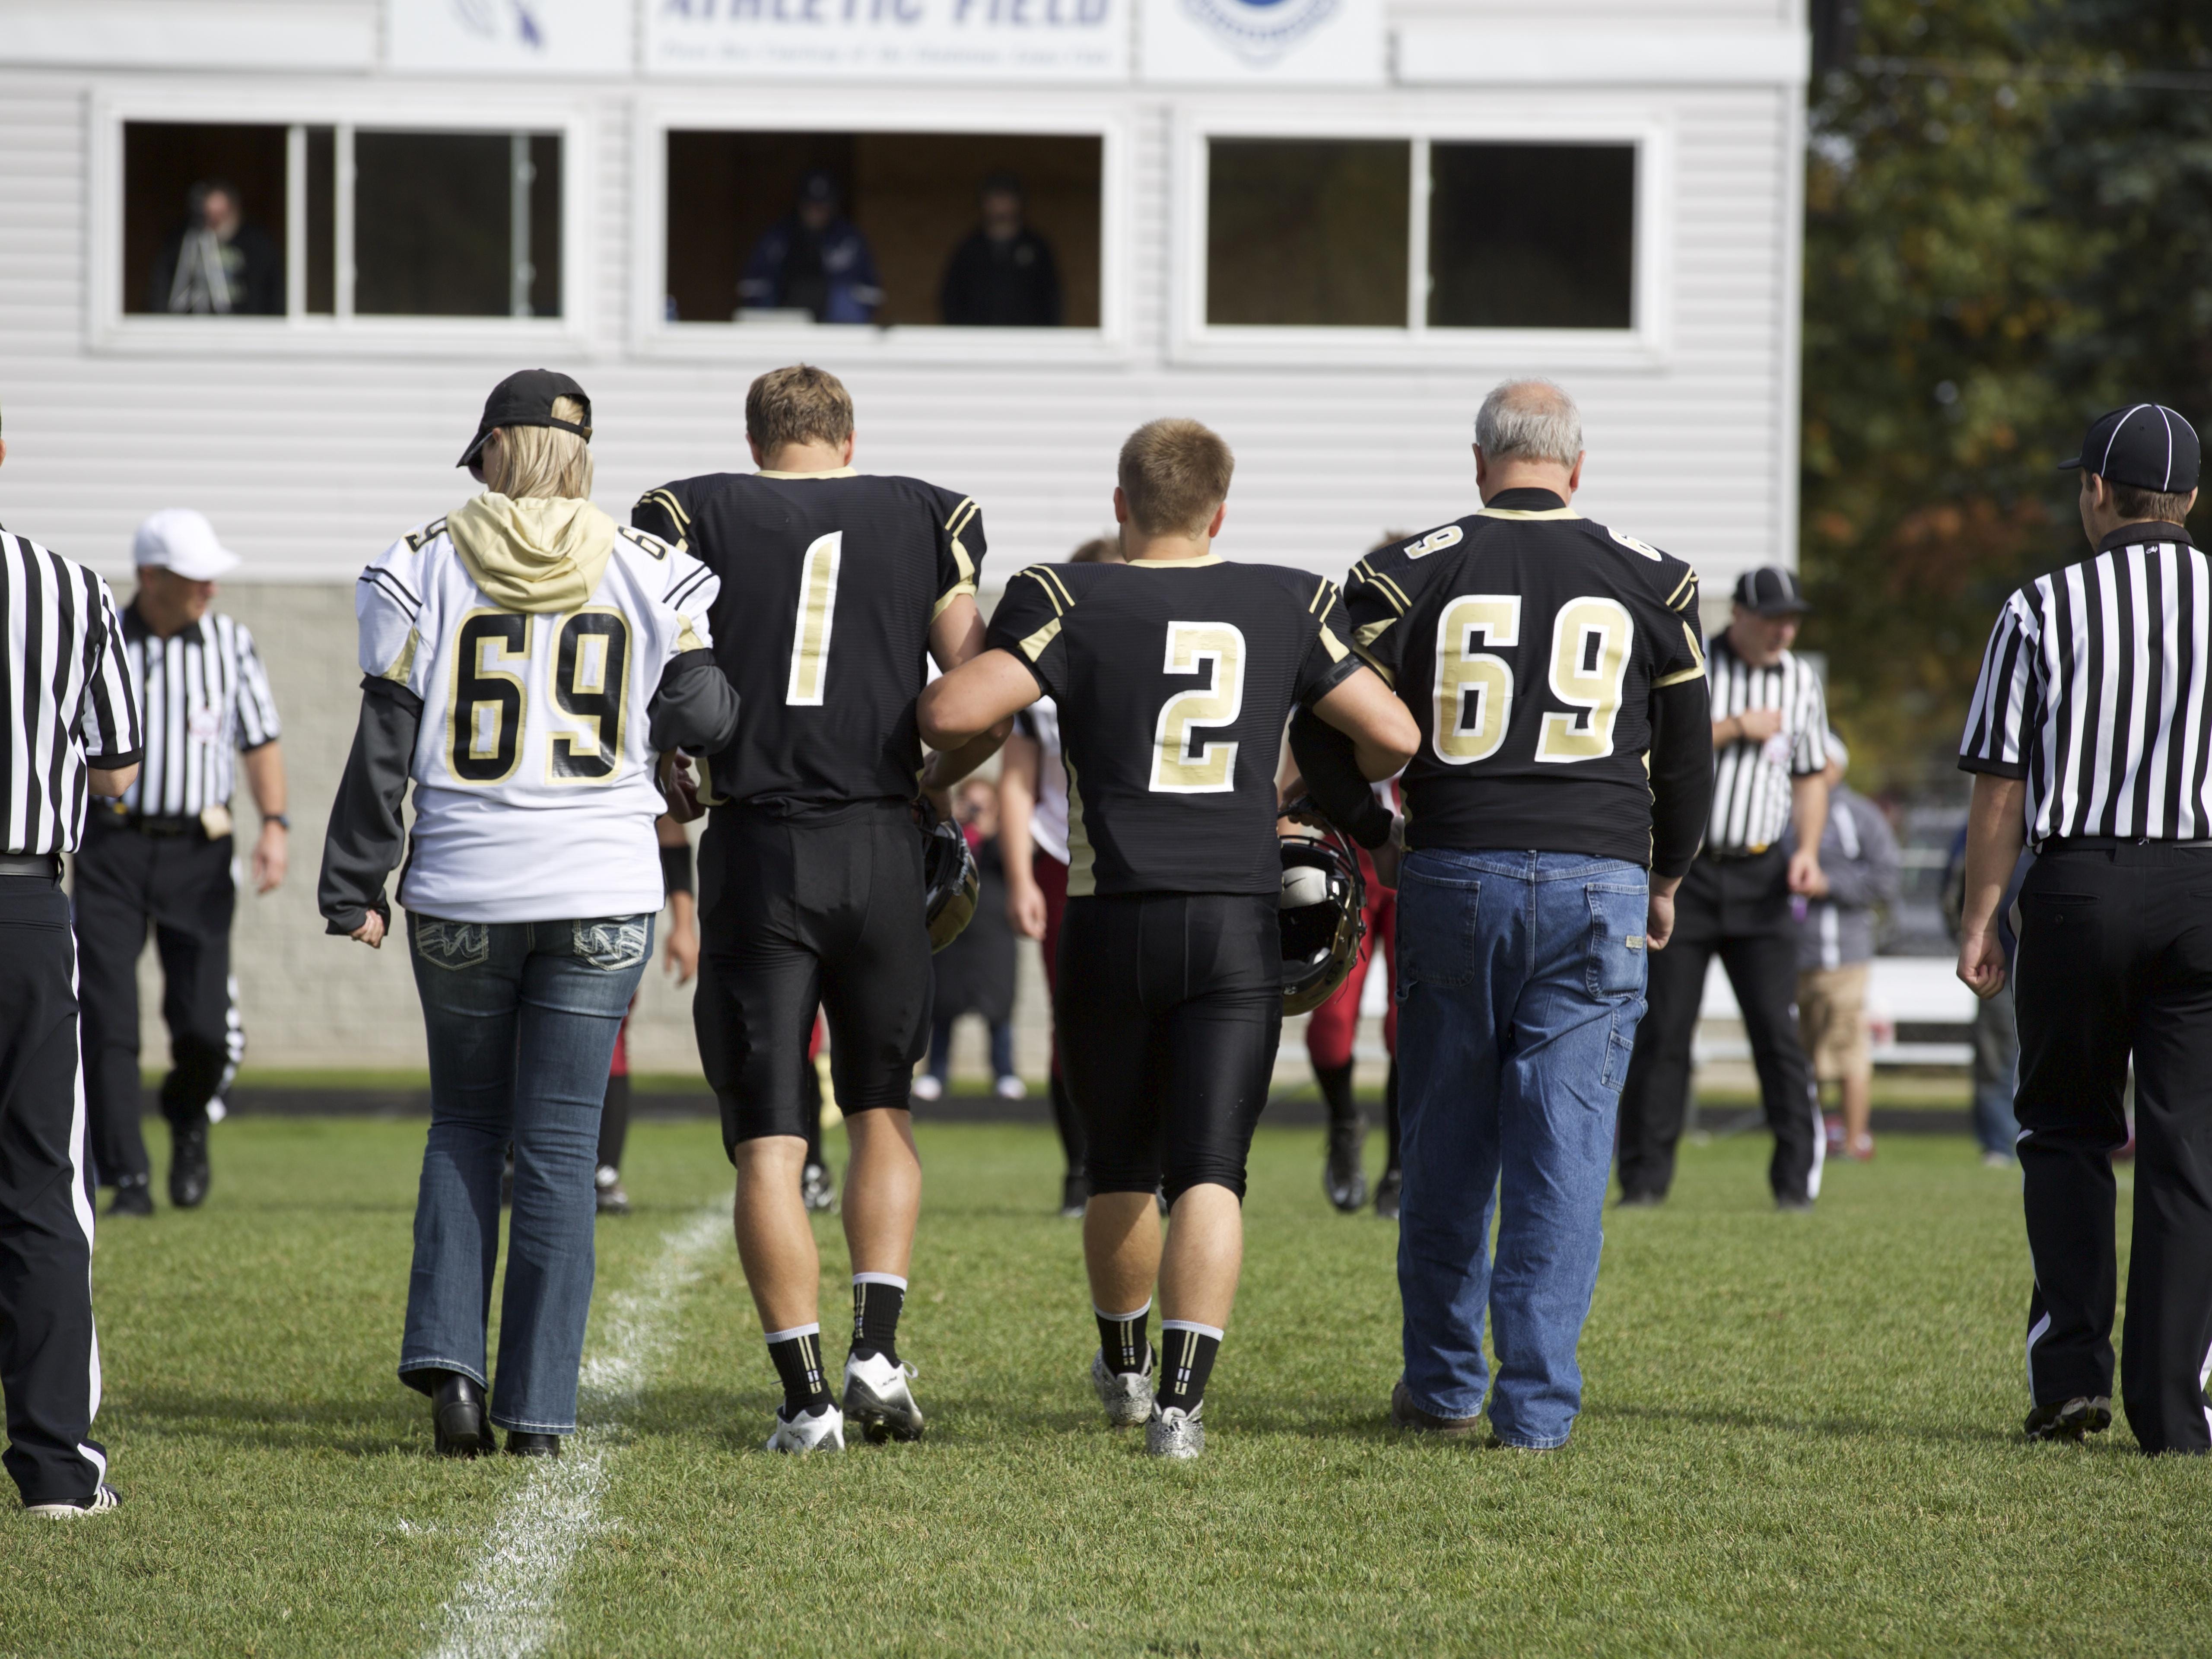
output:
<svg viewBox="0 0 2212 1659"><path fill-rule="evenodd" d="M2143 1451L2212 1451L2212 849L2046 847L2020 916L2028 1389L2037 1405L2112 1394L2112 1152L2132 1053L2121 1405Z"/></svg>

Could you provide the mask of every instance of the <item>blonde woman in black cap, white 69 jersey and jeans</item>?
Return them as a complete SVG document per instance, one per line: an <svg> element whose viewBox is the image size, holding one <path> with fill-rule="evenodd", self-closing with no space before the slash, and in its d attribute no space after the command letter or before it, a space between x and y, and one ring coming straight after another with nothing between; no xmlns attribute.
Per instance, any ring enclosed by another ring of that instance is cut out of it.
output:
<svg viewBox="0 0 2212 1659"><path fill-rule="evenodd" d="M575 380L502 380L460 458L484 493L394 542L354 597L367 679L319 898L332 933L376 947L407 854L431 1126L400 1380L431 1396L449 1455L489 1451L493 1425L509 1451L555 1455L575 1429L599 1108L661 909L655 757L737 730L708 633L717 577L591 504L588 440Z"/></svg>

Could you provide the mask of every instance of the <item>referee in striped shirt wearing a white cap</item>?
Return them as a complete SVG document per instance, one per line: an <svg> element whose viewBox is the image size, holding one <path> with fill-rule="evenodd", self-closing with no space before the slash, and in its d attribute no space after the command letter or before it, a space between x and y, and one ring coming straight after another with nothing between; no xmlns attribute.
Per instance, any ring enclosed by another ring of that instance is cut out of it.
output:
<svg viewBox="0 0 2212 1659"><path fill-rule="evenodd" d="M153 1214L139 1133L137 960L153 929L161 958L161 1018L170 1071L168 1197L190 1210L208 1194L208 1102L243 1051L232 1006L230 796L243 761L261 814L257 891L285 874L285 779L276 701L254 639L215 615L215 580L239 560L190 509L148 518L133 542L139 591L124 644L146 699L146 770L117 803L93 812L75 863L84 1064L100 1186L111 1214Z"/></svg>

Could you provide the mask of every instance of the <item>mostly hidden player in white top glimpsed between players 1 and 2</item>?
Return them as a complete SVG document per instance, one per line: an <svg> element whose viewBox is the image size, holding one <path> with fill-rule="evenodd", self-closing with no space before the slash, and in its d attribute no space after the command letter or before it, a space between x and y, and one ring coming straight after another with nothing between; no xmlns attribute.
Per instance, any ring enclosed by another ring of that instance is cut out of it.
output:
<svg viewBox="0 0 2212 1659"><path fill-rule="evenodd" d="M1068 553L1068 564L1113 564L1121 542L1097 535ZM1000 750L998 834L1006 865L1006 918L1044 956L1044 984L1060 978L1060 918L1068 909L1068 765L1060 752L1060 706L1051 697L1013 717ZM1053 1035L1053 1124L1068 1168L1060 1181L1060 1219L1079 1221L1091 1199L1088 1144L1068 1079L1060 1073L1060 1035Z"/></svg>

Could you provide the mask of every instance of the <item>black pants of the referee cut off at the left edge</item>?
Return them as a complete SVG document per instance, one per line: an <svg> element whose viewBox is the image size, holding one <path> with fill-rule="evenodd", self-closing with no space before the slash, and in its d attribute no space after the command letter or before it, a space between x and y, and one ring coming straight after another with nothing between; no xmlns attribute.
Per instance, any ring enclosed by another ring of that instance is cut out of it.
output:
<svg viewBox="0 0 2212 1659"><path fill-rule="evenodd" d="M106 1478L93 1340L69 898L0 876L0 1394L7 1471L27 1504L84 1502Z"/></svg>

